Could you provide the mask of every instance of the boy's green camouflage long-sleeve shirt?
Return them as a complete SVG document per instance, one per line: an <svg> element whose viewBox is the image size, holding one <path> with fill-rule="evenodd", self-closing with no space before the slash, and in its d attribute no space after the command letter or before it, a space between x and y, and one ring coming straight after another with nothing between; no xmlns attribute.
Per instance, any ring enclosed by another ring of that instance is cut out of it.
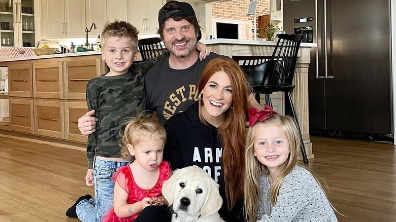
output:
<svg viewBox="0 0 396 222"><path fill-rule="evenodd" d="M94 109L94 117L98 119L96 131L88 136L88 169L93 167L96 156L120 157L118 141L125 128L121 122L145 109L144 76L153 64L167 55L169 52L164 52L145 62L133 63L122 75L102 75L88 82L88 110Z"/></svg>

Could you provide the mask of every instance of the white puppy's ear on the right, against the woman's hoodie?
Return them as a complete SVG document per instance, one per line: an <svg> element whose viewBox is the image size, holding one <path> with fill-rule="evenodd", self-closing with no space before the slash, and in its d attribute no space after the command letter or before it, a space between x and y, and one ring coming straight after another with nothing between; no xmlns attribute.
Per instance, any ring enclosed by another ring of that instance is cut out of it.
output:
<svg viewBox="0 0 396 222"><path fill-rule="evenodd" d="M216 213L219 211L222 204L223 199L219 193L219 184L211 178L208 180L208 193L204 205L201 208L201 215L209 216Z"/></svg>

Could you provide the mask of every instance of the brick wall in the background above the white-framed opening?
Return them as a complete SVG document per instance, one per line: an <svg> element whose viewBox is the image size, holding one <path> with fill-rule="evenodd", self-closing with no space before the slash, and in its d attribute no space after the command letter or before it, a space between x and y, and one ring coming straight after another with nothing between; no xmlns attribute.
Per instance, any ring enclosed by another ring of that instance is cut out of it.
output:
<svg viewBox="0 0 396 222"><path fill-rule="evenodd" d="M212 18L223 18L230 20L251 21L253 26L253 15L247 16L250 0L233 0L223 3L212 4ZM258 16L270 14L270 0L259 0L257 3L256 17L258 27Z"/></svg>

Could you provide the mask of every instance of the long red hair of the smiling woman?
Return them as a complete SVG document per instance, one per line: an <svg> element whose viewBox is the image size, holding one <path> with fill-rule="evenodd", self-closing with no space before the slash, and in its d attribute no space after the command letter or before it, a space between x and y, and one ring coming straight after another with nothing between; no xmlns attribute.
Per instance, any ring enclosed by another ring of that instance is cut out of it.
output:
<svg viewBox="0 0 396 222"><path fill-rule="evenodd" d="M245 73L238 64L228 58L215 58L205 66L198 82L198 92L201 92L209 79L218 71L227 74L231 82L233 104L224 112L224 120L217 128L218 137L223 145L222 168L224 169L225 196L228 210L232 209L238 199L243 198L244 145L245 122L250 108L249 89ZM199 100L200 109L203 105ZM201 122L208 124L202 112L199 112Z"/></svg>

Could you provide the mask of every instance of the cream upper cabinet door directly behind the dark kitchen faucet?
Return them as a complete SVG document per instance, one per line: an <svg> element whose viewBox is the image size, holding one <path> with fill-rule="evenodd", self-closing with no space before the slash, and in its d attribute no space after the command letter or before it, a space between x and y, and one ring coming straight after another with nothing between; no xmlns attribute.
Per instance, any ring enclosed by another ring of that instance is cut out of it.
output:
<svg viewBox="0 0 396 222"><path fill-rule="evenodd" d="M97 36L102 33L103 25L107 21L106 0L85 0L85 26L88 29L95 23L96 29L92 28L89 36Z"/></svg>

